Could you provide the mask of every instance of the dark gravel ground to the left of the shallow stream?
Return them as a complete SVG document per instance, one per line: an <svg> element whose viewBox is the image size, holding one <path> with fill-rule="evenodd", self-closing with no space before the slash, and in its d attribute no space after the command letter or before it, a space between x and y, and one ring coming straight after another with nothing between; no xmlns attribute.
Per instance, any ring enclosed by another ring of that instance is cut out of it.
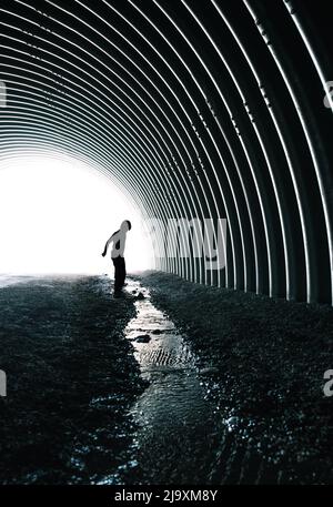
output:
<svg viewBox="0 0 333 507"><path fill-rule="evenodd" d="M107 277L38 278L0 290L0 484L91 484L131 467L143 391L123 329L134 297Z"/></svg>

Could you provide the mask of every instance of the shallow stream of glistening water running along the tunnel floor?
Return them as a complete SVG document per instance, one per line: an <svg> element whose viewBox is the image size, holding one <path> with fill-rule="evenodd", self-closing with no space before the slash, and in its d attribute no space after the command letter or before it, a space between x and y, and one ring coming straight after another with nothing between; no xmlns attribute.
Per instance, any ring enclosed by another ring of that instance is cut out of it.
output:
<svg viewBox="0 0 333 507"><path fill-rule="evenodd" d="M150 385L131 408L140 429L134 438L137 466L127 481L208 483L222 422L206 399L195 357L174 324L152 305L148 290L131 281L128 291L144 295L135 303L138 314L125 335Z"/></svg>

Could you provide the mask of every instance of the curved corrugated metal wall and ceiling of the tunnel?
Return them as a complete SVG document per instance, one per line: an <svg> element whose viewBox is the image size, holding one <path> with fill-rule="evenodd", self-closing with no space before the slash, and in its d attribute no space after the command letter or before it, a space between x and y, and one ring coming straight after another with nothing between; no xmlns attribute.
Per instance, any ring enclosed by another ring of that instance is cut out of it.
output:
<svg viewBox="0 0 333 507"><path fill-rule="evenodd" d="M163 270L332 303L329 4L3 1L1 158L70 154L148 217L226 217L225 268Z"/></svg>

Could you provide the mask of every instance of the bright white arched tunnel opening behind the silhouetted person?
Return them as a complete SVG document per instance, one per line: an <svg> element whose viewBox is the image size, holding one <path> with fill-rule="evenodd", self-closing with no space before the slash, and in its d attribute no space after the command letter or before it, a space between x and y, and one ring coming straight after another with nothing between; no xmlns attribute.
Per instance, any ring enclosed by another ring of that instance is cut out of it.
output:
<svg viewBox="0 0 333 507"><path fill-rule="evenodd" d="M109 178L71 158L0 161L0 273L111 273L105 241L130 220L128 271L152 266L139 210Z"/></svg>

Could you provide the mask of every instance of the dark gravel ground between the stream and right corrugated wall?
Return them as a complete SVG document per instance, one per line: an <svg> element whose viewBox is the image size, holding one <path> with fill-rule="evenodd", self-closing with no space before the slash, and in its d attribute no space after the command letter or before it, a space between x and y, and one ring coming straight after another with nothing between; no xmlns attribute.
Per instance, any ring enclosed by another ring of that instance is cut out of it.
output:
<svg viewBox="0 0 333 507"><path fill-rule="evenodd" d="M332 484L333 397L323 394L333 368L332 308L162 273L140 280L184 332L226 428L210 480Z"/></svg>

